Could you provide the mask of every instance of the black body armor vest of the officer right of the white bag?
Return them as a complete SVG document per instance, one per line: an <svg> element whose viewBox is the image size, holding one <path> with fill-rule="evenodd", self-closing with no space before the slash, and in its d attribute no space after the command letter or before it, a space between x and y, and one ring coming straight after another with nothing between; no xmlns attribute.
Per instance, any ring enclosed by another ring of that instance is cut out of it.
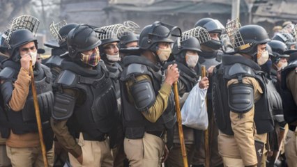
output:
<svg viewBox="0 0 297 167"><path fill-rule="evenodd" d="M222 56L222 64L217 66L213 71L213 111L215 122L218 129L227 135L234 135L231 129L231 120L229 112L231 111L228 104L227 82L231 79L242 79L243 77L253 77L257 79L264 94L254 103L254 122L257 133L264 134L273 130L273 118L268 108L268 95L264 72L259 65L242 56Z"/></svg>

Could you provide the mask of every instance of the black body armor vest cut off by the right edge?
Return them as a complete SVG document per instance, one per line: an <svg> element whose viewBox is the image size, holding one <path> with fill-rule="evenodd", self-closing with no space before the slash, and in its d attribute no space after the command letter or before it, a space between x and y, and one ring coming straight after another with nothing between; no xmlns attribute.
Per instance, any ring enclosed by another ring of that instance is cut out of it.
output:
<svg viewBox="0 0 297 167"><path fill-rule="evenodd" d="M284 120L286 120L288 124L297 121L297 105L291 91L287 88L287 75L292 70L296 70L296 67L297 60L289 63L289 65L282 70L280 94L282 95L282 102L284 104Z"/></svg>

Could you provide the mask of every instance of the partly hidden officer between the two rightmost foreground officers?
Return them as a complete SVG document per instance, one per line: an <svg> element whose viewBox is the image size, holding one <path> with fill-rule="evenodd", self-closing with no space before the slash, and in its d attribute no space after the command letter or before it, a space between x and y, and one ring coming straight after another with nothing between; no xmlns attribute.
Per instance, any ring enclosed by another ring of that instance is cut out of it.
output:
<svg viewBox="0 0 297 167"><path fill-rule="evenodd" d="M269 58L264 65L261 65L261 70L266 73L266 86L268 93L268 105L273 116L275 130L268 133L268 166L274 166L277 154L281 152L282 140L284 139L285 126L284 113L282 109L282 98L280 97L280 78L277 77L277 64L280 63L280 58L284 55L284 50L287 46L283 42L271 40L266 45ZM288 55L289 56L289 55ZM286 60L286 59L284 59ZM286 61L287 62L287 61ZM280 65L281 67L281 65ZM279 154L280 155L280 154ZM277 163L281 162L277 160Z"/></svg>

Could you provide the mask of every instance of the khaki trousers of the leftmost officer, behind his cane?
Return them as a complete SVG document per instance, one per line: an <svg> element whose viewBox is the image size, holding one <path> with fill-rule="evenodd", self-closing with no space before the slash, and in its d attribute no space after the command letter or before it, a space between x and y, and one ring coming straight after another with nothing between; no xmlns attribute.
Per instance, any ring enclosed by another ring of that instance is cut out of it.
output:
<svg viewBox="0 0 297 167"><path fill-rule="evenodd" d="M11 148L6 145L6 152L13 167L44 166L40 146L35 148ZM49 166L54 165L54 148L47 152L47 163Z"/></svg>

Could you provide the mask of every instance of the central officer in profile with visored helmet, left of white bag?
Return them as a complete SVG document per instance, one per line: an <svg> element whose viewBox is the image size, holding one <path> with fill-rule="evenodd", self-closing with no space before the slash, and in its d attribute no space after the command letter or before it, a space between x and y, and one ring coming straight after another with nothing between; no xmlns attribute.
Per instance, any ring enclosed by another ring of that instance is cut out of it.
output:
<svg viewBox="0 0 297 167"><path fill-rule="evenodd" d="M168 154L162 138L172 142L174 98L172 84L178 80L177 65L169 65L165 79L161 64L169 58L172 33L178 27L154 22L139 35L139 56L126 56L121 75L121 106L125 130L124 149L130 166L160 166ZM171 136L171 137L169 137Z"/></svg>

